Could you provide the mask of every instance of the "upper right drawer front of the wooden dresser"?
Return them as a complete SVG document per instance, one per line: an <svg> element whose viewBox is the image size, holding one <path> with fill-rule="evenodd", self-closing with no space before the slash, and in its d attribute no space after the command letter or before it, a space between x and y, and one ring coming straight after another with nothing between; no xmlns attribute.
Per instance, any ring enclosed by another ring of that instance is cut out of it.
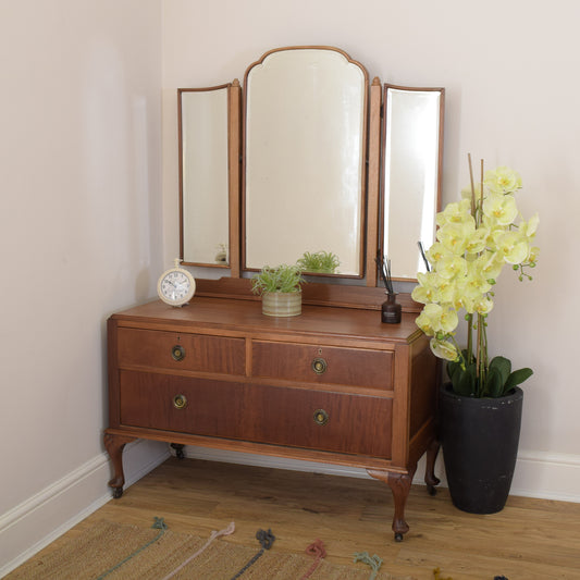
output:
<svg viewBox="0 0 580 580"><path fill-rule="evenodd" d="M393 388L393 353L252 342L252 374L295 382Z"/></svg>

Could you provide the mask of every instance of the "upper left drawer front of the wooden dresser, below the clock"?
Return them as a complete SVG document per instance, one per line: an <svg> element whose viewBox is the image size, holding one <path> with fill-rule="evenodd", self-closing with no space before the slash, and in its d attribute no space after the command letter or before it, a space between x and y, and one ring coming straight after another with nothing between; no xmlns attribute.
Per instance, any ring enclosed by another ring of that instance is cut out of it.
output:
<svg viewBox="0 0 580 580"><path fill-rule="evenodd" d="M119 329L119 366L219 372L243 375L244 338L177 332Z"/></svg>

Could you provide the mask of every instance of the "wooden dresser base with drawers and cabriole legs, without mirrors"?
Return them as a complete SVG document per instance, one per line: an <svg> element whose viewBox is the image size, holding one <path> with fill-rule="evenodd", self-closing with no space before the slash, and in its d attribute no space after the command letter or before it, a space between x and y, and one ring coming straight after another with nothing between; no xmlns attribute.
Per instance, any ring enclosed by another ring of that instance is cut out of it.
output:
<svg viewBox="0 0 580 580"><path fill-rule="evenodd" d="M113 314L104 443L114 496L135 439L338 464L390 485L402 540L425 452L428 490L439 483L437 362L415 312L383 324L377 307L305 304L301 316L270 318L259 300L208 295Z"/></svg>

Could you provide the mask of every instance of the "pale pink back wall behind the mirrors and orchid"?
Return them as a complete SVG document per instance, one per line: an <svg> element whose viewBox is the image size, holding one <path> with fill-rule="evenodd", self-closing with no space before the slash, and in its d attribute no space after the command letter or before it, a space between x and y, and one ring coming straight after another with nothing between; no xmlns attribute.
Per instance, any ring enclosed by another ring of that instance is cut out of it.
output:
<svg viewBox="0 0 580 580"><path fill-rule="evenodd" d="M520 208L527 217L540 212L535 280L503 274L491 350L535 370L526 384L522 453L565 457L578 474L578 313L570 298L580 284L579 20L576 0L550 10L504 0L164 2L165 261L178 247L175 88L242 81L263 52L292 45L342 48L382 82L444 86L445 201L468 183L471 152L490 168L519 170Z"/></svg>

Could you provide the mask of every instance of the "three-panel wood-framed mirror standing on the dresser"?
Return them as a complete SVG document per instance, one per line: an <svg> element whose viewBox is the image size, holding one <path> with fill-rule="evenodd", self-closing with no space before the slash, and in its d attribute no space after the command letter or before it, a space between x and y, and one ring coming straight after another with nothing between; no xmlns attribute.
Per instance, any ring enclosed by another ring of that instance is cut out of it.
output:
<svg viewBox="0 0 580 580"><path fill-rule="evenodd" d="M443 89L369 87L330 47L267 52L240 87L178 89L181 257L232 276L299 262L377 284L424 269L434 239ZM382 121L381 121L382 119Z"/></svg>

